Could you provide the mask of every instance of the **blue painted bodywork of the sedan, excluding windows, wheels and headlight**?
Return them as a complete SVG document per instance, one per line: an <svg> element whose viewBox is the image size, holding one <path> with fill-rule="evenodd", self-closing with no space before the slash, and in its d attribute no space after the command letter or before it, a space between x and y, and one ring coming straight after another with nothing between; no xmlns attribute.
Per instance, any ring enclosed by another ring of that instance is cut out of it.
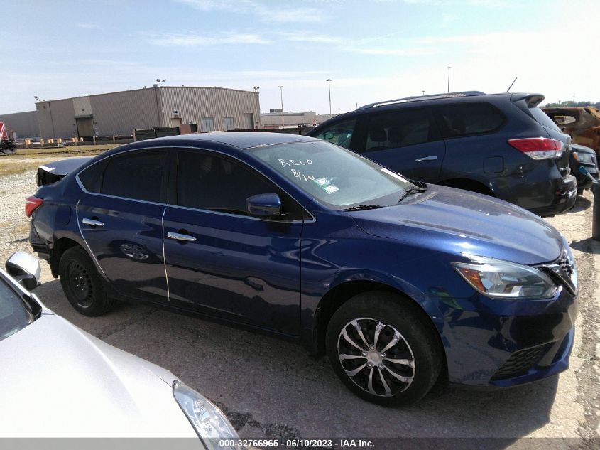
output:
<svg viewBox="0 0 600 450"><path fill-rule="evenodd" d="M245 150L256 142L316 139L267 135L179 136L99 155L38 189L44 201L33 213L31 245L50 260L55 276L60 253L76 243L97 262L113 295L293 339L311 353L322 350L327 319L349 292L386 290L420 306L440 337L450 382L509 386L568 367L576 290L560 286L554 298L535 301L491 299L451 265L467 262L465 254L555 262L564 248L554 228L501 200L435 185L387 208L332 210ZM227 154L290 194L305 218L276 223L166 200L114 198L88 193L76 178L113 154L149 148ZM82 225L84 217L104 227ZM165 239L182 229L198 239ZM528 358L530 367L511 375L511 361Z"/></svg>

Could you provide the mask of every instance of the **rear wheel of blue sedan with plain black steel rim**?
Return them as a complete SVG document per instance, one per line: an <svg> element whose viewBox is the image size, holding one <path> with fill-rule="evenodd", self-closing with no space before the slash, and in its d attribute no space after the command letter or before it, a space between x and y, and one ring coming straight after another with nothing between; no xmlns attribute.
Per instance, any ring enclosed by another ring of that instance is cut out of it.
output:
<svg viewBox="0 0 600 450"><path fill-rule="evenodd" d="M116 305L107 296L102 278L82 247L71 247L60 257L60 285L67 300L84 316L102 316Z"/></svg>

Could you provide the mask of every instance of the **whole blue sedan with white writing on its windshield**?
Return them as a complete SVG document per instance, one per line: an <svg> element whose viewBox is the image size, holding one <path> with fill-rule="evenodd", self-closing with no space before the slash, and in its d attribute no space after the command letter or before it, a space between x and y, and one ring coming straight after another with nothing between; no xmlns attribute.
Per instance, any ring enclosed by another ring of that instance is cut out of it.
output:
<svg viewBox="0 0 600 450"><path fill-rule="evenodd" d="M373 402L568 367L577 269L557 230L320 139L137 142L41 186L26 212L80 313L121 299L266 331L326 351Z"/></svg>

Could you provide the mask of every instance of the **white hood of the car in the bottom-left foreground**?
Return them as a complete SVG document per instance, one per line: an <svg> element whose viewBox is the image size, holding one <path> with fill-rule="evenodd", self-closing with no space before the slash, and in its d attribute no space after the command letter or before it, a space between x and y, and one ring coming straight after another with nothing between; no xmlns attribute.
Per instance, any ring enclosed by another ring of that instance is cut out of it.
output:
<svg viewBox="0 0 600 450"><path fill-rule="evenodd" d="M168 370L45 311L0 341L2 437L193 437Z"/></svg>

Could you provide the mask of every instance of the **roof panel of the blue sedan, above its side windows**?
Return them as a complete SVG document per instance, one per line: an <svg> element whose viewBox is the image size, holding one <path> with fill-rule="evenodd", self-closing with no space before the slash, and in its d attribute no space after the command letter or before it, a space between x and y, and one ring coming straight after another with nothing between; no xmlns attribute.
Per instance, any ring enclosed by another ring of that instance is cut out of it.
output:
<svg viewBox="0 0 600 450"><path fill-rule="evenodd" d="M158 139L151 139L151 141L153 142L185 141L185 143L187 144L202 144L210 142L214 144L230 145L239 149L251 149L253 147L258 146L290 144L292 142L308 142L318 140L319 139L315 139L308 136L302 136L300 134L273 132L210 132L200 134L180 134L179 136L166 136Z"/></svg>

